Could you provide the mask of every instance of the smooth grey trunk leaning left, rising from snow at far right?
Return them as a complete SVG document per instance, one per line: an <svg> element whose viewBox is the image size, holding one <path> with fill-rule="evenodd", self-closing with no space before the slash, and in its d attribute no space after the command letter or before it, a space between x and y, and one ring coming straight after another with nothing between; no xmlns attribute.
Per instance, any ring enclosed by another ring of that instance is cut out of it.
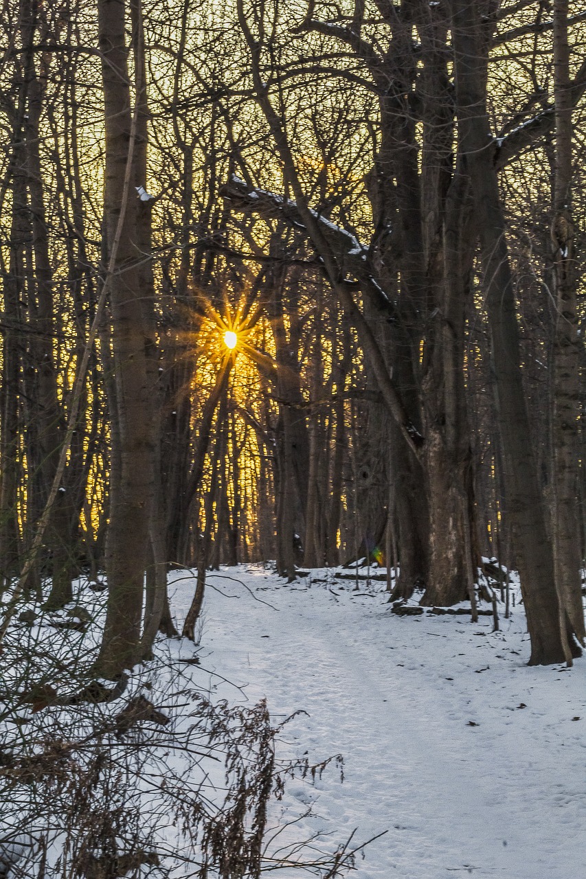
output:
<svg viewBox="0 0 586 879"><path fill-rule="evenodd" d="M480 40L480 9L472 9L467 0L451 0L451 11L459 149L470 176L480 228L504 478L531 636L530 665L571 663L565 628L560 627L553 548L546 530L520 367L506 225L488 140L486 50Z"/></svg>

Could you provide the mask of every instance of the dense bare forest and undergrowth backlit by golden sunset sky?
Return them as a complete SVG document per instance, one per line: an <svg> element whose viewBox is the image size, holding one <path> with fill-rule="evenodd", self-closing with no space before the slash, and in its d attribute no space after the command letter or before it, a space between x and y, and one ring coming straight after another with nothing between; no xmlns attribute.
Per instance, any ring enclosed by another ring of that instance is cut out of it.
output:
<svg viewBox="0 0 586 879"><path fill-rule="evenodd" d="M128 737L124 790L161 748L187 760L169 795L209 742L240 754L221 820L201 791L168 809L201 827L197 875L260 875L266 706L192 694L172 734L132 684L171 692L160 650L205 643L226 566L291 588L378 571L396 614L488 607L495 630L515 595L524 661L580 665L586 11L2 9L0 794L37 820L56 785L75 832L55 857L39 832L18 872L20 818L0 818L0 875L163 870L136 803L119 853L126 794L100 761Z"/></svg>

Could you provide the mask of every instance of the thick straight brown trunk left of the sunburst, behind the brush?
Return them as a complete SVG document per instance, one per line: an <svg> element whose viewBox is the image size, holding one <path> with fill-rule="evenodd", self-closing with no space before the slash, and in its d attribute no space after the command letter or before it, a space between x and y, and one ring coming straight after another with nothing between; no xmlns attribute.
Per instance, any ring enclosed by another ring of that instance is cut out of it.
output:
<svg viewBox="0 0 586 879"><path fill-rule="evenodd" d="M137 202L133 181L136 117L130 111L126 9L123 0L98 0L106 123L105 225L114 254L110 280L120 468L111 476L106 543L108 603L97 668L116 677L138 658L154 480L153 389L137 266ZM137 76L140 75L140 68ZM138 94L141 87L137 84ZM138 109L138 108L136 108Z"/></svg>

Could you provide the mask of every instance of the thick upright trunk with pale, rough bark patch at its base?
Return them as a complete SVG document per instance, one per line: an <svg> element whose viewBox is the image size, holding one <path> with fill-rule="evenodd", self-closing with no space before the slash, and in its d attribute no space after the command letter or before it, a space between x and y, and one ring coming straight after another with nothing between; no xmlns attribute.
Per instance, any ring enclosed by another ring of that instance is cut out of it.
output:
<svg viewBox="0 0 586 879"><path fill-rule="evenodd" d="M467 593L472 565L465 480L465 294L473 244L466 239L465 193L453 170L454 108L445 9L422 11L421 261L427 284L427 327L421 355L421 408L429 492L429 578L421 602L455 604ZM458 222L459 221L459 222ZM461 225L460 225L461 224ZM466 261L468 265L466 265Z"/></svg>

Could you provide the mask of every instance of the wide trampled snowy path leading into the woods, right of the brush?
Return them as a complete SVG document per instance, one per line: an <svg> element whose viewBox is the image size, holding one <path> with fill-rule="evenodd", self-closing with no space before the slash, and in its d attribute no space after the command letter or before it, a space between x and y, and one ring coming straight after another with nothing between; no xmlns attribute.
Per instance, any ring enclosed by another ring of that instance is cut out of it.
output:
<svg viewBox="0 0 586 879"><path fill-rule="evenodd" d="M384 593L285 586L261 569L209 582L238 598L209 590L202 665L267 696L274 716L309 714L283 731L284 756L344 757L343 783L333 767L289 782L285 820L308 804L316 817L280 839L331 832L332 849L355 827L359 841L388 831L357 861L361 879L585 875L583 661L527 668L518 611L493 634L487 617L398 618ZM179 614L188 599L178 590Z"/></svg>

